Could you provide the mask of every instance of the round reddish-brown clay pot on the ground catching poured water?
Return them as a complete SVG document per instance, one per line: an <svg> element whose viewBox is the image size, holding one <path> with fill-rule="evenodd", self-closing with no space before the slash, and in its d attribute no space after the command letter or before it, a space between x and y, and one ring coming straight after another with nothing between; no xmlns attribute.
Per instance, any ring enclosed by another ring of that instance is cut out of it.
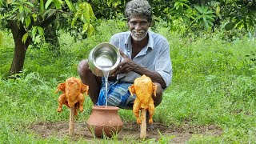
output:
<svg viewBox="0 0 256 144"><path fill-rule="evenodd" d="M93 106L92 113L87 120L87 128L98 138L111 138L122 130L122 120L116 106Z"/></svg>

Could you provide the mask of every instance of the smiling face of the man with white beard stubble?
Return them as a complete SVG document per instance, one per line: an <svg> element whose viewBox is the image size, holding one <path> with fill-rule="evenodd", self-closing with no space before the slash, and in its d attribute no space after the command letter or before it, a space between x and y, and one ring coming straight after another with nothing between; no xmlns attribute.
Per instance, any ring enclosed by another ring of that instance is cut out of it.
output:
<svg viewBox="0 0 256 144"><path fill-rule="evenodd" d="M142 39L146 37L150 22L148 22L146 18L135 16L130 18L128 26L130 28L131 37L135 41L142 41Z"/></svg>

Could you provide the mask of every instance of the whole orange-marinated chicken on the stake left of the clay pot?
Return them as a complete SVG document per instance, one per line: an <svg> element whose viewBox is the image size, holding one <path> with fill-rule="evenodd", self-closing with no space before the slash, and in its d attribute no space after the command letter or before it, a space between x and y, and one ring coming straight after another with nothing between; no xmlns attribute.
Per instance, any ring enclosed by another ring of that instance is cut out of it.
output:
<svg viewBox="0 0 256 144"><path fill-rule="evenodd" d="M67 78L66 82L58 84L55 94L60 90L63 94L58 97L58 112L62 111L62 104L69 108L74 106L75 115L78 115L78 108L81 112L83 111L83 102L85 100L83 94L88 94L89 86L84 85L81 79L71 77Z"/></svg>

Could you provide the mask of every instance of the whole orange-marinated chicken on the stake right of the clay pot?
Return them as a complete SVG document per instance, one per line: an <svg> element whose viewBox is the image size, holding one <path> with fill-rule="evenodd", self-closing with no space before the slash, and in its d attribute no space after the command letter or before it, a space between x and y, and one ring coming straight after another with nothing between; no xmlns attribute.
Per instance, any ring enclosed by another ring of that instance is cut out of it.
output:
<svg viewBox="0 0 256 144"><path fill-rule="evenodd" d="M134 115L137 118L137 123L141 124L143 118L139 118L139 110L145 109L149 111L149 123L153 123L153 114L154 114L154 100L152 94L156 96L157 86L151 81L146 75L142 75L139 78L134 80L134 84L129 86L130 94L136 94L134 101Z"/></svg>

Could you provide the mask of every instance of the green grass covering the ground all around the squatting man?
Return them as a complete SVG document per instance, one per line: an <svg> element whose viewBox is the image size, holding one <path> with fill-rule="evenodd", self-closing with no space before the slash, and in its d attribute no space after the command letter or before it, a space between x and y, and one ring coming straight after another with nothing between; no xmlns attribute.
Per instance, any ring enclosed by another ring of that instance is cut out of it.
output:
<svg viewBox="0 0 256 144"><path fill-rule="evenodd" d="M40 138L29 130L34 122L59 122L68 119L69 111L56 112L59 82L78 77L77 64L87 58L90 50L110 36L126 30L125 22L108 21L98 26L98 34L74 42L69 34L60 32L61 55L54 57L47 46L40 50L30 47L24 71L15 81L6 80L13 58L14 42L4 33L0 46L0 143L72 143L66 137ZM256 43L246 38L226 42L221 32L206 38L180 38L168 34L161 24L154 30L170 42L173 63L172 85L164 92L163 101L155 110L154 122L166 126L217 125L219 136L194 134L187 143L255 143L256 142ZM92 103L87 97L85 111L78 121L86 121ZM119 110L123 121L135 121L131 110ZM158 143L171 142L162 136ZM85 143L79 139L77 143ZM94 142L98 142L96 138ZM103 140L102 143L137 143L133 138ZM144 143L152 143L147 140ZM143 143L143 142L142 142Z"/></svg>

